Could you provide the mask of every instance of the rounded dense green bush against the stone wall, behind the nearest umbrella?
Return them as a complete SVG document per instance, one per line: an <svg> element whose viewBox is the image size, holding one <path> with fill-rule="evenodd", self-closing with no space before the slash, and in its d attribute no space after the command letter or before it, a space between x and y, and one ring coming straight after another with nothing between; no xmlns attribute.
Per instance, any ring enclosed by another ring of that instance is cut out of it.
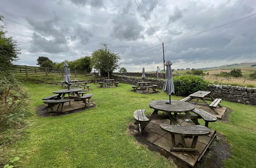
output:
<svg viewBox="0 0 256 168"><path fill-rule="evenodd" d="M186 96L197 91L205 91L208 86L208 81L200 76L175 76L174 89L175 95Z"/></svg>

